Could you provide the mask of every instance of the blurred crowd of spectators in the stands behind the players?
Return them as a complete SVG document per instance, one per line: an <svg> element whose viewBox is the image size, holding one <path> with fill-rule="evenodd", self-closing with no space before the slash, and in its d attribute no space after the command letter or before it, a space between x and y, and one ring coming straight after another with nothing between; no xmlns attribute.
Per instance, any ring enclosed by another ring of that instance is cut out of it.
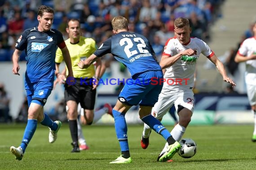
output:
<svg viewBox="0 0 256 170"><path fill-rule="evenodd" d="M66 21L78 18L85 37L97 45L112 35L111 19L121 15L129 20L131 32L143 34L161 56L166 40L173 36L174 20L190 20L192 37L210 40L209 28L221 13L224 0L1 0L0 61L11 61L16 40L22 32L38 25L37 9L41 4L54 11L52 28L67 38ZM25 52L20 60L26 60Z"/></svg>

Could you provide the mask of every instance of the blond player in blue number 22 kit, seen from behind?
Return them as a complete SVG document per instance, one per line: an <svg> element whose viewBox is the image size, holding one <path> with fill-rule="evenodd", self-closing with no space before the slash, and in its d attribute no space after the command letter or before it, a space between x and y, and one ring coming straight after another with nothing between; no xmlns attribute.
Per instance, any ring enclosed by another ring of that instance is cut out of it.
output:
<svg viewBox="0 0 256 170"><path fill-rule="evenodd" d="M99 57L111 53L115 59L128 68L132 75L131 81L124 85L113 108L115 131L119 140L121 155L110 163L132 162L128 147L125 114L134 105L140 105L141 120L167 140L168 152L159 160L167 161L181 148L181 145L173 139L159 120L150 115L152 106L158 101L159 93L163 87L163 84L160 83L160 79L163 78L162 69L155 58L150 42L140 34L128 32L126 18L114 17L111 24L115 35L107 39L88 59L80 61L78 64L79 68L88 68ZM153 77L157 83L152 84L151 78ZM146 83L139 83L143 81Z"/></svg>

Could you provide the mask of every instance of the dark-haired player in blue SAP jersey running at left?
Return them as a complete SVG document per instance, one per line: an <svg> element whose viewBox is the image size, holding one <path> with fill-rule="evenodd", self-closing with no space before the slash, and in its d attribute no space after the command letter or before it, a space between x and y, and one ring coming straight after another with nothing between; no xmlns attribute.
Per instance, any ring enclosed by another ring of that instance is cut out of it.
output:
<svg viewBox="0 0 256 170"><path fill-rule="evenodd" d="M63 40L62 34L51 29L54 11L52 8L42 5L38 9L37 27L25 30L16 43L13 52L13 74L18 73L19 56L23 50L26 51L26 75L25 88L28 100L28 118L24 131L22 143L18 148L11 146L10 151L16 159L22 160L23 154L35 133L37 122L50 128L49 142L57 139L57 132L61 127L61 121L53 122L48 115L44 114L44 104L53 89L55 72L55 54L60 47L66 62L69 75L73 77L69 51Z"/></svg>

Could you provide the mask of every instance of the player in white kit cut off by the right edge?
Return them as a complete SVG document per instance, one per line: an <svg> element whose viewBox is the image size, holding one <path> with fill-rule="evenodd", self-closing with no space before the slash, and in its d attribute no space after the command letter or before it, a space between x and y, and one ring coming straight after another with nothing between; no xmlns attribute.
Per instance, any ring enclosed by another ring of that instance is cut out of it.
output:
<svg viewBox="0 0 256 170"><path fill-rule="evenodd" d="M247 96L254 114L254 131L252 141L256 142L256 22L253 26L254 36L247 38L240 45L235 62L245 62L245 83L247 87Z"/></svg>

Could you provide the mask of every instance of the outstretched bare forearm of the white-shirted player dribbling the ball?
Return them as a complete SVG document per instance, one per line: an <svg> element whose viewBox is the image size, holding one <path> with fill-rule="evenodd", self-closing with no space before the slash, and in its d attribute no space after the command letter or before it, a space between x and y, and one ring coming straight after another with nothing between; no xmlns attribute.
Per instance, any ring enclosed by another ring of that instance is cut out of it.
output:
<svg viewBox="0 0 256 170"><path fill-rule="evenodd" d="M215 64L216 68L218 69L218 71L221 73L221 76L223 77L223 81L226 81L228 83L230 83L231 85L236 85L234 83L234 81L227 76L225 67L223 65L223 63L221 62L221 60L219 60L216 55L212 55L212 57L208 58L213 64Z"/></svg>

